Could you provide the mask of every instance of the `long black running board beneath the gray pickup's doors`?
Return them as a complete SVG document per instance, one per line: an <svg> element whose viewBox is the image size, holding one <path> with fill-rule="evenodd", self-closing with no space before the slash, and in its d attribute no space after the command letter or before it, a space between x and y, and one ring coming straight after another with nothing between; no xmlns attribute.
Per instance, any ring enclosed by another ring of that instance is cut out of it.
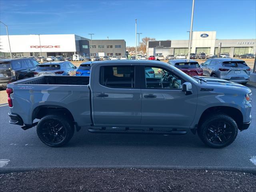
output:
<svg viewBox="0 0 256 192"><path fill-rule="evenodd" d="M106 129L95 129L89 128L89 132L91 133L112 133L112 134L154 134L154 135L184 135L187 133L185 130L106 130Z"/></svg>

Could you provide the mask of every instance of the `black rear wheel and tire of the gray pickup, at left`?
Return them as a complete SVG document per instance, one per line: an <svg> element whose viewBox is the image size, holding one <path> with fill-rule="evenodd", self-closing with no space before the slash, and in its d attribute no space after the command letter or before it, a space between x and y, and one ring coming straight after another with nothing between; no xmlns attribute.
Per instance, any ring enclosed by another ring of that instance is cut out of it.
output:
<svg viewBox="0 0 256 192"><path fill-rule="evenodd" d="M74 135L74 125L62 115L51 114L40 119L36 132L44 144L60 147L67 144Z"/></svg>

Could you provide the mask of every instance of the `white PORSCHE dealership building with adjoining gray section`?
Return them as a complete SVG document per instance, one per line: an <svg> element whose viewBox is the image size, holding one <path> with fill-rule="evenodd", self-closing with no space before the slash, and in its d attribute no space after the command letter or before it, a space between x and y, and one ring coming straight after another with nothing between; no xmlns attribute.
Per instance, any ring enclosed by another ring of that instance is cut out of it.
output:
<svg viewBox="0 0 256 192"><path fill-rule="evenodd" d="M9 35L13 57L125 55L125 40L90 40L75 34ZM8 36L0 36L0 56L10 57Z"/></svg>

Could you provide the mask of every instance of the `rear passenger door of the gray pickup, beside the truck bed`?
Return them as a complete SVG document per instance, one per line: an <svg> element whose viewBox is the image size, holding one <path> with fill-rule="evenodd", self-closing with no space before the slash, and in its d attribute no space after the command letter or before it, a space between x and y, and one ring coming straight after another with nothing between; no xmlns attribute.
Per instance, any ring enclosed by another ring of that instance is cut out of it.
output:
<svg viewBox="0 0 256 192"><path fill-rule="evenodd" d="M135 66L98 66L93 85L92 112L96 126L136 126L141 121L141 89Z"/></svg>

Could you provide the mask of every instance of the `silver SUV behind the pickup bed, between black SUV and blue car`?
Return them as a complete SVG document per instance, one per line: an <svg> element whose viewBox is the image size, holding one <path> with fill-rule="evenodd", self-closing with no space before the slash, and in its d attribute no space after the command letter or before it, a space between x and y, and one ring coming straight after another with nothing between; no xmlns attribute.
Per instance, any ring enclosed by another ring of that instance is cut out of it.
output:
<svg viewBox="0 0 256 192"><path fill-rule="evenodd" d="M76 75L76 66L68 61L46 62L38 65L34 76Z"/></svg>

